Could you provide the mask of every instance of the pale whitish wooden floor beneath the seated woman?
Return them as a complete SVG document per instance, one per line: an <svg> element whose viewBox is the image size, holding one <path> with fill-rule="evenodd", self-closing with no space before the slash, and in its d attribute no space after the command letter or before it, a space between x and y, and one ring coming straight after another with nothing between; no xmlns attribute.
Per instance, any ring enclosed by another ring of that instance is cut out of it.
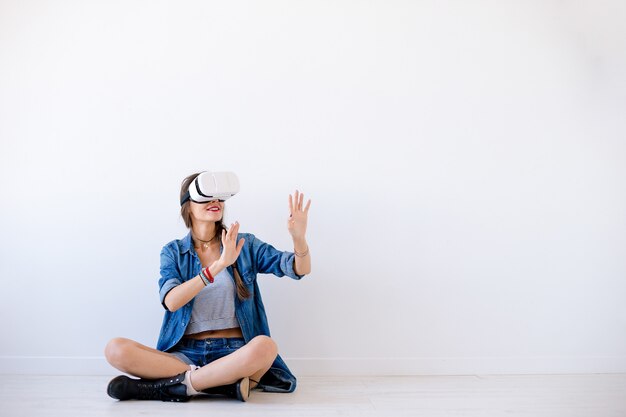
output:
<svg viewBox="0 0 626 417"><path fill-rule="evenodd" d="M626 417L626 374L301 377L296 392L247 403L116 401L110 377L2 375L0 416L545 416Z"/></svg>

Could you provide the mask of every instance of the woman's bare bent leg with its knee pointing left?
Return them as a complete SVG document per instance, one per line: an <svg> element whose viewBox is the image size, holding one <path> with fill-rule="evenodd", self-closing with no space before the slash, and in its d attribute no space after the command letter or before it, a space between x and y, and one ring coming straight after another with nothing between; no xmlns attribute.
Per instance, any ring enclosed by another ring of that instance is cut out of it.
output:
<svg viewBox="0 0 626 417"><path fill-rule="evenodd" d="M113 367L139 378L167 378L189 370L189 365L174 355L121 337L107 344L104 355Z"/></svg>

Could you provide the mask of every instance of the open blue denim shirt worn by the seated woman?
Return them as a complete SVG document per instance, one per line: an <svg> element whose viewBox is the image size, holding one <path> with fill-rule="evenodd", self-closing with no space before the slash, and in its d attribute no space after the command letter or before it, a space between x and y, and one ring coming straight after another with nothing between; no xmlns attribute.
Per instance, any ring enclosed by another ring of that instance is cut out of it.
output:
<svg viewBox="0 0 626 417"><path fill-rule="evenodd" d="M257 274L274 274L278 277L288 276L300 279L293 269L294 253L281 252L251 233L239 233L237 242L241 238L245 243L236 264L244 285L250 292L250 297L240 300L235 293L235 315L241 327L243 338L248 343L258 335L270 335L265 307L257 284ZM222 248L220 248L220 252ZM194 278L200 273L202 265L193 248L191 233L183 239L173 240L161 250L161 278L159 279L159 294L161 304L165 307L165 317L157 342L157 349L167 352L183 337L185 328L191 319L194 299L183 307L171 312L165 306L165 296L177 285ZM231 277L234 277L233 266L228 267ZM233 278L234 280L234 278ZM235 288L236 291L236 288ZM296 377L291 373L287 364L278 355L269 371L259 381L259 388L269 392L293 392L296 389Z"/></svg>

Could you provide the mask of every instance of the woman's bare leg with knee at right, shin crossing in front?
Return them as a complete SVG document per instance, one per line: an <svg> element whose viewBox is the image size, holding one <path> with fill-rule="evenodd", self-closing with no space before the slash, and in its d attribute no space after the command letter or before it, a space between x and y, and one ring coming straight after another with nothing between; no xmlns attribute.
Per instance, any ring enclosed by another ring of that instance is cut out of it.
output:
<svg viewBox="0 0 626 417"><path fill-rule="evenodd" d="M191 384L203 389L228 385L241 378L251 377L258 381L272 366L278 354L276 343L267 336L257 336L230 355L191 372ZM251 382L250 387L256 386Z"/></svg>

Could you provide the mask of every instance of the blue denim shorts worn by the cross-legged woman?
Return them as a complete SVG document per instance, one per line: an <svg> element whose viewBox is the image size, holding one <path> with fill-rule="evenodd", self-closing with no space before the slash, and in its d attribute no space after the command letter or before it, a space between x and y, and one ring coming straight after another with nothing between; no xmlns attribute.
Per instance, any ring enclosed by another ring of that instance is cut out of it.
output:
<svg viewBox="0 0 626 417"><path fill-rule="evenodd" d="M181 339L167 353L176 356L187 365L204 366L229 355L245 345L242 337L218 337L202 340Z"/></svg>

